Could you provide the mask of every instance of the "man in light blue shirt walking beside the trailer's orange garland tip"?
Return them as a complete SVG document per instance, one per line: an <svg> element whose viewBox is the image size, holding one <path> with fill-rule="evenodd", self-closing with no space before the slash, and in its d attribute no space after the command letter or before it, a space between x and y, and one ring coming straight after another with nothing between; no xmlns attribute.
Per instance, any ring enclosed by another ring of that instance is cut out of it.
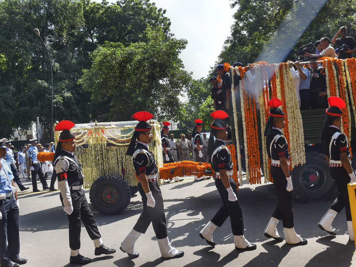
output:
<svg viewBox="0 0 356 267"><path fill-rule="evenodd" d="M38 177L40 177L43 190L47 190L49 189L49 187L47 185L45 175L43 174L42 166L37 159L38 150L36 147L36 143L37 143L36 140L37 138L30 140L31 147L28 149L28 162L30 163L31 166L30 169L31 169L31 177L32 177L32 190L33 192L40 192L40 190L37 189L37 181L36 181L37 174Z"/></svg>

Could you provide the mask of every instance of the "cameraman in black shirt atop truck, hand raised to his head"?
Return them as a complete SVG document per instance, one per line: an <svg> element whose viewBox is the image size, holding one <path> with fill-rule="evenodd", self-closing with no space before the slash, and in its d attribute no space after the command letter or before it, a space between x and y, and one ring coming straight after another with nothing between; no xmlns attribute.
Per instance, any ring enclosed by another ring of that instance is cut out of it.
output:
<svg viewBox="0 0 356 267"><path fill-rule="evenodd" d="M337 38L337 36L341 34L341 38ZM339 31L336 32L332 43L339 46L339 57L340 59L352 58L352 52L356 50L356 42L352 37L347 37L347 27L342 26Z"/></svg>

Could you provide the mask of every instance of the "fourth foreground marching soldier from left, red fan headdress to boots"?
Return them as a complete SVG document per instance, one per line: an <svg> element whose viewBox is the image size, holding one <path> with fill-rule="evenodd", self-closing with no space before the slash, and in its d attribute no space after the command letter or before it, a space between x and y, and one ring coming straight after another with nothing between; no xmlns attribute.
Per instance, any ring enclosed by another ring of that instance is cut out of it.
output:
<svg viewBox="0 0 356 267"><path fill-rule="evenodd" d="M266 145L269 148L267 154L271 158L271 176L276 185L278 203L265 229L265 236L282 241L283 237L279 236L277 231L278 221L282 220L286 243L307 245L308 241L302 239L294 231L293 185L288 169L290 164L288 143L282 133L285 114L281 108L278 108L281 105L282 101L278 98L272 98L268 102L271 110L269 111L265 136L267 136Z"/></svg>

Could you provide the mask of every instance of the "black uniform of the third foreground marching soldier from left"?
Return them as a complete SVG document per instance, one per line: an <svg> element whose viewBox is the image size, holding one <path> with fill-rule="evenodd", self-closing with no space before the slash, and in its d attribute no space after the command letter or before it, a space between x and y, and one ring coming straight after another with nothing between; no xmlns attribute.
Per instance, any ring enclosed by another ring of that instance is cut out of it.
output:
<svg viewBox="0 0 356 267"><path fill-rule="evenodd" d="M220 179L220 176L216 176L215 186L218 189L221 200L223 200L223 205L216 212L211 222L215 225L221 227L225 220L230 216L231 229L233 235L243 235L244 234L244 219L242 219L242 209L239 200L239 191L237 190L237 184L232 179L232 161L231 153L229 148L226 147L225 142L221 140L216 140L214 142L214 152L211 157L211 164L214 172L218 174L220 169L226 169L227 175L229 176L230 185L234 193L236 194L237 201L228 200L228 192L225 185Z"/></svg>

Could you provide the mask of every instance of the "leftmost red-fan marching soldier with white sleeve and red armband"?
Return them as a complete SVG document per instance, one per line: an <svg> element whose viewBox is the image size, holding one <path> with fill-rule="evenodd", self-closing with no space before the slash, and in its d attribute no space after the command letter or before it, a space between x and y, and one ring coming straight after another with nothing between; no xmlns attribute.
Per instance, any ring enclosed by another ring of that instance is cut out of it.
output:
<svg viewBox="0 0 356 267"><path fill-rule="evenodd" d="M115 253L116 250L104 246L93 213L91 213L87 198L85 198L82 163L74 155L75 136L69 131L74 125L71 121L61 121L54 128L54 131L62 132L59 135L53 165L57 172L58 186L61 192L59 197L69 220L69 262L86 264L91 262L91 259L79 254L80 230L82 229L80 220L83 221L90 239L94 241L94 255L108 255Z"/></svg>

